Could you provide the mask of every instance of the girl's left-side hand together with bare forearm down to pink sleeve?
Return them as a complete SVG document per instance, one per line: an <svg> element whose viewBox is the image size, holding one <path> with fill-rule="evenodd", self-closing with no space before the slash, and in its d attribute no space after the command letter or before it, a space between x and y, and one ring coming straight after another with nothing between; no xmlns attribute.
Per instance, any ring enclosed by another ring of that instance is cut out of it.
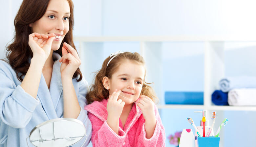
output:
<svg viewBox="0 0 256 147"><path fill-rule="evenodd" d="M118 135L119 130L119 118L122 114L124 102L122 102L121 99L118 99L118 96L120 94L121 90L115 90L115 92L112 93L112 95L109 95L108 98L108 104L107 104L107 111L108 111L108 117L107 117L107 123L110 126L110 128Z"/></svg>

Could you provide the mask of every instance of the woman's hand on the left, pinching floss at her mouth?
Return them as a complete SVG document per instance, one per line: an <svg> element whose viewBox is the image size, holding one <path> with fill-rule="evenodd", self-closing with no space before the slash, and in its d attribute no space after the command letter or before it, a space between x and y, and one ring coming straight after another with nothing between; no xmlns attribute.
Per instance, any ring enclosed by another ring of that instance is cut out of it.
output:
<svg viewBox="0 0 256 147"><path fill-rule="evenodd" d="M29 35L29 46L32 50L33 57L42 58L43 61L49 57L52 49L52 43L55 39L55 34L38 34L32 33Z"/></svg>

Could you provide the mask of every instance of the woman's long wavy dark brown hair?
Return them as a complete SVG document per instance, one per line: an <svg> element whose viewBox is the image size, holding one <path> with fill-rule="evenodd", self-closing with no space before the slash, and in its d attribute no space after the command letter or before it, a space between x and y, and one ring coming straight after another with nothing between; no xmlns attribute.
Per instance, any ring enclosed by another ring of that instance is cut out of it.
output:
<svg viewBox="0 0 256 147"><path fill-rule="evenodd" d="M74 29L74 5L72 0L67 0L70 7L69 17L69 31L64 37L62 42L70 44L75 50L73 42L73 29ZM14 19L15 34L13 42L7 47L7 59L11 67L16 71L17 78L22 81L22 76L25 75L29 69L30 61L33 53L29 46L29 34L32 34L31 27L29 24L39 20L44 14L48 7L50 0L23 0L16 17ZM62 56L61 48L54 52ZM78 68L73 75L73 78L79 75L80 81L82 79L82 73Z"/></svg>

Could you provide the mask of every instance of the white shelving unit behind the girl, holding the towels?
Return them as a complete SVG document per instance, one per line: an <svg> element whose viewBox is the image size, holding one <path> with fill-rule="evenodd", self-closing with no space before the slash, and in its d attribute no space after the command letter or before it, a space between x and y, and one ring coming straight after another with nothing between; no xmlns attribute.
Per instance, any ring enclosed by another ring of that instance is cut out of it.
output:
<svg viewBox="0 0 256 147"><path fill-rule="evenodd" d="M215 106L211 102L211 94L218 89L219 80L224 77L224 42L250 41L256 42L256 36L100 36L100 37L74 37L79 42L79 55L85 63L91 63L93 57L101 56L102 43L113 42L139 42L140 54L144 57L147 66L147 81L154 82L154 89L158 94L160 103L158 108L173 109L204 109L204 110L239 110L256 111L256 106ZM164 105L164 91L162 91L161 42L204 42L204 104L203 105ZM96 49L90 48L86 43L95 43ZM88 59L90 58L90 59ZM88 65L81 66L83 73ZM94 65L91 65L94 66ZM159 71L154 75L153 71ZM88 73L90 74L90 73Z"/></svg>

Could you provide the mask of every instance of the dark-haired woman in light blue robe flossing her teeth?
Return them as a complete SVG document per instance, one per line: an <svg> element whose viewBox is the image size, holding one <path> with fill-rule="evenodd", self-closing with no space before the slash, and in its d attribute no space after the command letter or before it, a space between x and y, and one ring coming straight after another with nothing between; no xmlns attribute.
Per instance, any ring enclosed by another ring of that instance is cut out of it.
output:
<svg viewBox="0 0 256 147"><path fill-rule="evenodd" d="M8 61L0 60L0 146L27 146L33 127L61 117L86 127L87 139L74 146L89 143L92 126L83 109L88 84L78 68L73 19L71 0L22 2Z"/></svg>

